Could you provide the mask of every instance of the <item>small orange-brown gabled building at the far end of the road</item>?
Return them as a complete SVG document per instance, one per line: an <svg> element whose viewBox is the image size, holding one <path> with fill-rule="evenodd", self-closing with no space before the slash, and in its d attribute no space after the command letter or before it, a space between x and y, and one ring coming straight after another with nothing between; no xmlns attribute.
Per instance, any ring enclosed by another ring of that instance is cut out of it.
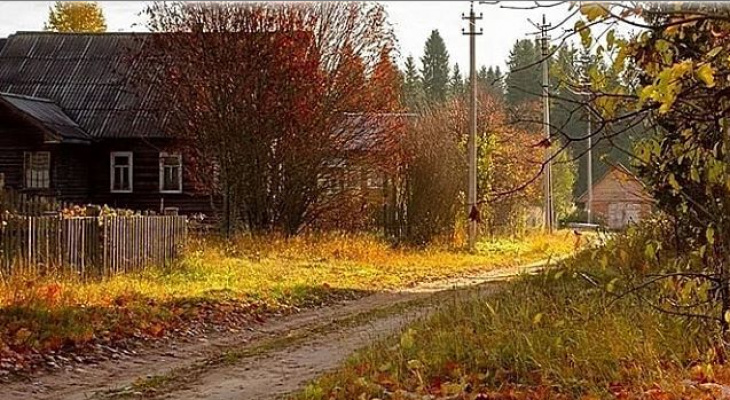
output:
<svg viewBox="0 0 730 400"><path fill-rule="evenodd" d="M587 202L588 192L577 200L584 209ZM596 219L604 221L610 229L623 229L647 217L652 212L653 204L654 200L642 182L621 164L610 166L593 183L591 211Z"/></svg>

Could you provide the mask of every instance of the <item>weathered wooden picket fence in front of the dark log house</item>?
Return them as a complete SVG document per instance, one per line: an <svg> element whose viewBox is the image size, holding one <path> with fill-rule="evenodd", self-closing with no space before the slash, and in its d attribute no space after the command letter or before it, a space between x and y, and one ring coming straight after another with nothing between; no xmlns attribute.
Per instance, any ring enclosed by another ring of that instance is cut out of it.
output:
<svg viewBox="0 0 730 400"><path fill-rule="evenodd" d="M12 216L0 221L0 278L72 273L104 277L180 255L184 216Z"/></svg>

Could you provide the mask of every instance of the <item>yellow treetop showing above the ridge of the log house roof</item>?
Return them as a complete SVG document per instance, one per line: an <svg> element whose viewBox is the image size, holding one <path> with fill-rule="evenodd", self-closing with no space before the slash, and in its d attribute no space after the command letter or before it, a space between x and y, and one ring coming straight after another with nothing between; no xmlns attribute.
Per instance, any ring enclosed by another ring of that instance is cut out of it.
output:
<svg viewBox="0 0 730 400"><path fill-rule="evenodd" d="M106 19L94 1L57 1L49 9L45 30L55 32L104 32Z"/></svg>

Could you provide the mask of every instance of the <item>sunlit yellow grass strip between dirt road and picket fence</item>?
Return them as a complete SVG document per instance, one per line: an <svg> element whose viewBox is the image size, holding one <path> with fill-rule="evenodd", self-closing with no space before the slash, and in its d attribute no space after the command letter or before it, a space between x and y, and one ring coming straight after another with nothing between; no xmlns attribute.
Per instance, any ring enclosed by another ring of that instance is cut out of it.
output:
<svg viewBox="0 0 730 400"><path fill-rule="evenodd" d="M570 232L480 244L397 249L367 235L241 237L191 243L166 268L83 282L14 277L0 283L0 362L191 326L240 326L302 307L570 253ZM202 329L202 328L201 328ZM21 367L21 368L18 368ZM2 368L0 368L2 369Z"/></svg>

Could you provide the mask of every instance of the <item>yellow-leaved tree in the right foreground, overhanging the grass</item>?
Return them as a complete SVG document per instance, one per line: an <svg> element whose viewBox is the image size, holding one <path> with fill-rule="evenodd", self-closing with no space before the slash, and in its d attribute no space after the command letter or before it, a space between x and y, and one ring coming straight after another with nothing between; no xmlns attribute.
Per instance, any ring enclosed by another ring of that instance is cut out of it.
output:
<svg viewBox="0 0 730 400"><path fill-rule="evenodd" d="M623 151L671 226L670 235L645 244L645 265L617 254L624 275L607 290L694 321L693 329L714 330L716 355L724 361L730 340L730 7L573 7L582 15L573 27L582 45L611 60L586 71L590 89L581 105L595 118L593 137L611 141L641 127L639 143ZM641 31L622 37L616 29L622 24ZM593 46L597 37L604 39ZM676 252L665 257L670 247Z"/></svg>

